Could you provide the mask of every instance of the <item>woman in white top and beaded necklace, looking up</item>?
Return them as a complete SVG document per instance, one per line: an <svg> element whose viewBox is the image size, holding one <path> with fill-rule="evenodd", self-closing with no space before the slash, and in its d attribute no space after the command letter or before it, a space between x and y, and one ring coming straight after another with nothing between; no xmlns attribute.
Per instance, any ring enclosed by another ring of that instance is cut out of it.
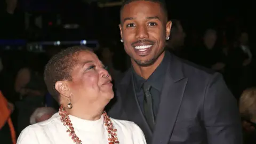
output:
<svg viewBox="0 0 256 144"><path fill-rule="evenodd" d="M104 111L114 97L112 79L88 47L69 47L52 57L45 67L44 80L60 104L59 113L26 127L18 144L146 144L138 125L109 118Z"/></svg>

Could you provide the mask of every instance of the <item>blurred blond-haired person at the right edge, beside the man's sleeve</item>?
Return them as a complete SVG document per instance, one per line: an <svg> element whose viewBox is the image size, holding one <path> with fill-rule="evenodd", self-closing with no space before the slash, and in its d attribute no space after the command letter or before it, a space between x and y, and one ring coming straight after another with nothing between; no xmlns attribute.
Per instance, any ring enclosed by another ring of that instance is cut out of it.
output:
<svg viewBox="0 0 256 144"><path fill-rule="evenodd" d="M244 144L256 143L256 87L246 89L239 100L244 128Z"/></svg>

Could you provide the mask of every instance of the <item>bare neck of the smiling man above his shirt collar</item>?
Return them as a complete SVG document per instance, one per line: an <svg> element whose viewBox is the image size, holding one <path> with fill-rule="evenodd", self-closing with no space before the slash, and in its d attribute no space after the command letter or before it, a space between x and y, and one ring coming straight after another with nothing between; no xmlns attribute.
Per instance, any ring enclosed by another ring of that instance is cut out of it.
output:
<svg viewBox="0 0 256 144"><path fill-rule="evenodd" d="M141 67L139 66L134 60L132 60L132 66L135 70L135 72L143 77L144 79L148 79L149 76L156 70L156 68L160 65L160 63L163 61L164 59L164 54L165 52L163 52L161 55L159 55L159 57L157 58L157 60L153 63L153 65L147 66L147 67Z"/></svg>

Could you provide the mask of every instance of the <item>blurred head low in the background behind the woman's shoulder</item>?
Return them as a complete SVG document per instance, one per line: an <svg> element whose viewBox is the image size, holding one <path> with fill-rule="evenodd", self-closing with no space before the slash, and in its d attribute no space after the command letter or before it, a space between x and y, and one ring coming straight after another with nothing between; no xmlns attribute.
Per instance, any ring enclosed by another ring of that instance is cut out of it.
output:
<svg viewBox="0 0 256 144"><path fill-rule="evenodd" d="M36 108L34 113L30 116L30 124L46 121L51 118L53 114L57 113L52 107L39 107Z"/></svg>

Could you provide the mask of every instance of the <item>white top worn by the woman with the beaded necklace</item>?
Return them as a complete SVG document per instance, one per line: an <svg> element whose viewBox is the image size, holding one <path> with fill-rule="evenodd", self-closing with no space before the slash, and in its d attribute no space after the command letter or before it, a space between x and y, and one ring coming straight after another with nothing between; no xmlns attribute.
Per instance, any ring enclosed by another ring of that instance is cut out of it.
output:
<svg viewBox="0 0 256 144"><path fill-rule="evenodd" d="M106 126L103 116L97 121L87 121L69 115L75 133L83 144L108 144ZM146 144L140 127L133 122L110 118L117 129L117 138L121 144ZM20 134L17 144L72 144L74 143L67 128L60 121L58 113L50 119L27 126Z"/></svg>

